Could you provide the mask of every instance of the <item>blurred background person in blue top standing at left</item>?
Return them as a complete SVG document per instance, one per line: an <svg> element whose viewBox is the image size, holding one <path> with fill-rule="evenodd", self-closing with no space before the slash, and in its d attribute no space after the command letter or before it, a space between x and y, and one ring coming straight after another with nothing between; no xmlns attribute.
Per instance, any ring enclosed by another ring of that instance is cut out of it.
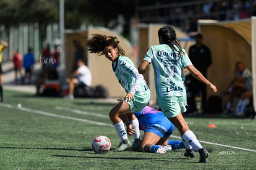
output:
<svg viewBox="0 0 256 170"><path fill-rule="evenodd" d="M28 52L23 56L23 67L25 69L24 83L32 83L33 66L35 64L35 56L32 47L28 47Z"/></svg>

